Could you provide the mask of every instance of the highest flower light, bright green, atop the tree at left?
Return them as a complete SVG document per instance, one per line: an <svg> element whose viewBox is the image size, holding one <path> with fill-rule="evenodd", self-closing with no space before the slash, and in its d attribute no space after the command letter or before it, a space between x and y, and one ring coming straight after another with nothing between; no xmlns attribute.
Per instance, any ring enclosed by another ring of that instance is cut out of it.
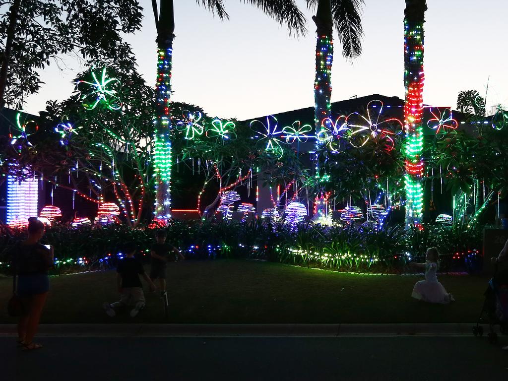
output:
<svg viewBox="0 0 508 381"><path fill-rule="evenodd" d="M81 92L83 107L87 110L93 110L101 103L110 110L119 110L122 107L121 101L116 96L117 91L113 87L119 86L120 80L108 78L106 68L102 69L100 80L97 78L96 73L91 72L91 75L93 82L78 81L76 83L76 87Z"/></svg>

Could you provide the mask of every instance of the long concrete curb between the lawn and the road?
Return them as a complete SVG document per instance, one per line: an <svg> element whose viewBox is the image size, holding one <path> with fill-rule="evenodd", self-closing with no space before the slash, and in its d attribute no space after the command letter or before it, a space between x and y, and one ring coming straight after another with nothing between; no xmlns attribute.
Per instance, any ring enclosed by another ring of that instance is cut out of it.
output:
<svg viewBox="0 0 508 381"><path fill-rule="evenodd" d="M444 324L43 324L39 336L72 337L360 337L468 336L474 323ZM0 337L16 326L0 325Z"/></svg>

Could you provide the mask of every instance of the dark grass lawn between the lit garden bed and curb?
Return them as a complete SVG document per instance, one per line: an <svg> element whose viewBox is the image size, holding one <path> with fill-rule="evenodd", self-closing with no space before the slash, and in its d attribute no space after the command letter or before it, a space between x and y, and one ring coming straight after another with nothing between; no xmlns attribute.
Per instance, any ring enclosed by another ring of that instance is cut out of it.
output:
<svg viewBox="0 0 508 381"><path fill-rule="evenodd" d="M148 270L148 269L147 269ZM483 303L487 278L440 276L455 295L452 305L410 297L421 275L357 275L243 260L170 263L170 317L162 301L145 292L137 317L103 309L116 301L115 271L51 278L43 323L456 323L473 322ZM0 305L11 296L12 279L0 278ZM6 308L0 322L13 323Z"/></svg>

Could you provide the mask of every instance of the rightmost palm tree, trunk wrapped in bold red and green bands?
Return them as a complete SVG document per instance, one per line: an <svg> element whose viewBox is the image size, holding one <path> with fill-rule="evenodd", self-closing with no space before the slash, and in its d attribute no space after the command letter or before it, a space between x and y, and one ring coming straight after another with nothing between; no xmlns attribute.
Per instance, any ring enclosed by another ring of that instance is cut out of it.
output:
<svg viewBox="0 0 508 381"><path fill-rule="evenodd" d="M423 210L423 47L426 0L405 0L404 9L404 128L406 229L419 226Z"/></svg>

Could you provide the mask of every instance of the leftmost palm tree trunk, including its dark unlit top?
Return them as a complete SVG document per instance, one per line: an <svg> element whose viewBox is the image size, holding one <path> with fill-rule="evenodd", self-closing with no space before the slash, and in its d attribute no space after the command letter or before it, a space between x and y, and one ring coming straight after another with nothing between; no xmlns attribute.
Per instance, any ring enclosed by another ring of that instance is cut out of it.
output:
<svg viewBox="0 0 508 381"><path fill-rule="evenodd" d="M173 0L161 0L161 12L157 22L157 85L155 108L155 153L156 174L155 216L171 218L171 135L170 117L171 64L173 34L175 29Z"/></svg>

